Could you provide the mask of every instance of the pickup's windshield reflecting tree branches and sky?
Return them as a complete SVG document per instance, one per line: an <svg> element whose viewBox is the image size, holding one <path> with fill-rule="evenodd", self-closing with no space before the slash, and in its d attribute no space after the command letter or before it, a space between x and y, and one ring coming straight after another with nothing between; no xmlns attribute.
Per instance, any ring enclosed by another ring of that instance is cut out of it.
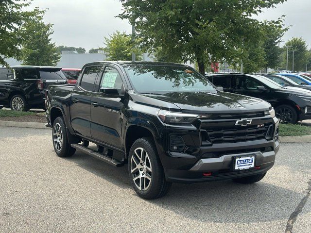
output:
<svg viewBox="0 0 311 233"><path fill-rule="evenodd" d="M215 87L190 67L129 65L125 67L133 88L138 93L211 92Z"/></svg>

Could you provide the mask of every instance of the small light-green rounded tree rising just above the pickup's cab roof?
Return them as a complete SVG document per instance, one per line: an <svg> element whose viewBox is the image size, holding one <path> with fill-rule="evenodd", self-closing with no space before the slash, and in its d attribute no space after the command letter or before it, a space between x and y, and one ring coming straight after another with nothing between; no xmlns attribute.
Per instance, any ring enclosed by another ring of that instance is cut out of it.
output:
<svg viewBox="0 0 311 233"><path fill-rule="evenodd" d="M109 37L104 37L107 60L110 61L130 61L132 60L132 52L136 54L136 60L141 59L141 51L137 49L130 35L125 32L115 32Z"/></svg>

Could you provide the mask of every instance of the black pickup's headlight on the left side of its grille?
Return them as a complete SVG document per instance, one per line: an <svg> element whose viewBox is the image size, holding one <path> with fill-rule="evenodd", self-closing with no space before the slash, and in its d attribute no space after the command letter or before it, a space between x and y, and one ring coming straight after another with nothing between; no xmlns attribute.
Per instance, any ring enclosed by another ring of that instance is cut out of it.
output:
<svg viewBox="0 0 311 233"><path fill-rule="evenodd" d="M193 122L199 115L159 110L157 116L159 116L164 123L189 124Z"/></svg>

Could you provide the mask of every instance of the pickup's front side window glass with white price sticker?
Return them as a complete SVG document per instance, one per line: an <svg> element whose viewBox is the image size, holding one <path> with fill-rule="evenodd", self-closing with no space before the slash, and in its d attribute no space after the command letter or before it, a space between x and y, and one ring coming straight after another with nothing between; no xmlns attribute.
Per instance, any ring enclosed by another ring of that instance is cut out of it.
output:
<svg viewBox="0 0 311 233"><path fill-rule="evenodd" d="M121 90L122 80L118 70L112 67L106 67L101 81L101 88L111 87Z"/></svg>

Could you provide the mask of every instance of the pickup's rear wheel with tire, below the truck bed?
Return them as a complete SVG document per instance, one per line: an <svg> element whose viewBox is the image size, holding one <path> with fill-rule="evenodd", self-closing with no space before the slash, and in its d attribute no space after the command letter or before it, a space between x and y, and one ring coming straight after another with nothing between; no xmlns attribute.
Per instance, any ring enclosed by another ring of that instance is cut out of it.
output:
<svg viewBox="0 0 311 233"><path fill-rule="evenodd" d="M76 149L70 147L66 125L62 116L58 116L53 122L52 140L54 150L59 157L69 157L76 151Z"/></svg>

